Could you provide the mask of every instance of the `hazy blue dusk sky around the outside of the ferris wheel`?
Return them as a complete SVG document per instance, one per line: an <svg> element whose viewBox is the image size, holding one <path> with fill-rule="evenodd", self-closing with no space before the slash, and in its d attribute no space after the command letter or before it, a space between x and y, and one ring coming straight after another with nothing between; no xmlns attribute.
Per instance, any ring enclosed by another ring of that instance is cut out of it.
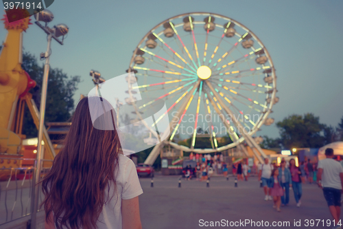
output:
<svg viewBox="0 0 343 229"><path fill-rule="evenodd" d="M66 23L70 29L64 45L53 41L50 63L81 76L75 101L92 89L91 69L107 79L124 74L132 51L158 23L186 12L213 12L246 25L268 49L280 98L270 116L275 122L311 112L336 127L343 116L343 1L56 0L49 10L51 26ZM0 41L5 34L1 26ZM45 52L43 30L30 25L23 46L36 57ZM275 122L258 135L279 136Z"/></svg>

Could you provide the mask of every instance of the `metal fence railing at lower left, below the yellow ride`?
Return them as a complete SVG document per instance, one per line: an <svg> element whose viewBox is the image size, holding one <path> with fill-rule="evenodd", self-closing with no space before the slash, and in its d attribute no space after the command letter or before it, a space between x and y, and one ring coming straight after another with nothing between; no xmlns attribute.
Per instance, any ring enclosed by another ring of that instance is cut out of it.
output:
<svg viewBox="0 0 343 229"><path fill-rule="evenodd" d="M13 159L1 157L3 160ZM16 160L32 160L36 159L20 158ZM52 160L42 160L43 162L52 162ZM34 163L36 164L36 163ZM40 167L42 168L42 167ZM50 168L42 168L40 171L40 179L50 170ZM36 166L21 167L21 168L0 168L1 175L8 175L8 179L0 182L0 228L6 223L10 223L17 219L32 215L32 199L38 201L38 204L43 201L43 193L41 186L38 187L38 197L34 197L33 184L36 173ZM38 209L38 212L42 209ZM34 214L35 215L35 214ZM32 215L33 216L33 215Z"/></svg>

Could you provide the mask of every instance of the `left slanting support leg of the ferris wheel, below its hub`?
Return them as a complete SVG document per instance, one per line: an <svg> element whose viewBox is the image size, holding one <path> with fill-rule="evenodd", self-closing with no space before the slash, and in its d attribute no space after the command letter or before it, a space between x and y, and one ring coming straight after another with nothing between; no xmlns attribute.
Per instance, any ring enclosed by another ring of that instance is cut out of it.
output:
<svg viewBox="0 0 343 229"><path fill-rule="evenodd" d="M161 139L169 138L169 136L171 135L171 132L174 129L175 125L180 120L183 111L185 111L186 106L187 106L187 102L189 102L189 100L191 99L193 92L196 89L198 89L200 82L201 82L201 80L198 80L196 85L194 85L193 89L191 89L191 91L189 91L188 95L185 97L185 102L183 102L181 107L178 109L178 111L177 111L178 113L175 116L173 116L173 119L169 123L169 127L166 129L166 131L163 132ZM152 149L151 153L147 156L147 159L145 159L144 164L154 164L156 158L158 157L158 154L160 153L160 150L162 149L162 147L164 145L165 145L164 142L161 142L160 144L156 144L156 146L154 146L154 149Z"/></svg>

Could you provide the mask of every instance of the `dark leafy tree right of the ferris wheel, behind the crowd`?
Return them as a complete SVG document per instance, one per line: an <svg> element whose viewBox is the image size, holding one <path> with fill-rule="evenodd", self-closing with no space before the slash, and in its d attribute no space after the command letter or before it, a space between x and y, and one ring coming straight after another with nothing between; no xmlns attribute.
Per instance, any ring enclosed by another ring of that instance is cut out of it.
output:
<svg viewBox="0 0 343 229"><path fill-rule="evenodd" d="M319 148L327 144L327 136L324 135L325 124L319 122L319 117L313 113L305 113L304 116L292 115L276 123L281 136L281 144L285 149L291 148Z"/></svg>

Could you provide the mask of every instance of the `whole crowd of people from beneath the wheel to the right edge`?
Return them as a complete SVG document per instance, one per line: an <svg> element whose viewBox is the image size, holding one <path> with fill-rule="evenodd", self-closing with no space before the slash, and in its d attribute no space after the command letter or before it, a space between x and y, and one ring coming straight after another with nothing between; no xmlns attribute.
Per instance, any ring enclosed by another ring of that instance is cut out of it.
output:
<svg viewBox="0 0 343 229"><path fill-rule="evenodd" d="M296 161L292 158L286 161L281 160L278 165L270 163L268 158L265 158L263 164L259 164L256 168L259 181L263 186L265 201L273 201L273 208L281 212L281 206L285 207L289 204L289 190L293 190L296 206L300 208L301 197L303 195L303 184L318 184L323 190L324 198L329 206L329 211L337 225L340 220L341 193L343 187L343 160L338 162L334 160L332 149L325 151L326 159L314 163L310 159L305 162L300 162L297 166ZM225 177L228 174L228 164L224 162L223 155L191 155L190 160L196 161L196 167L185 168L186 179L196 177L200 181L206 181L213 175L214 172L222 174ZM239 160L233 164L233 175L237 175L237 180L248 181L250 167L246 160ZM340 228L335 226L334 228Z"/></svg>

